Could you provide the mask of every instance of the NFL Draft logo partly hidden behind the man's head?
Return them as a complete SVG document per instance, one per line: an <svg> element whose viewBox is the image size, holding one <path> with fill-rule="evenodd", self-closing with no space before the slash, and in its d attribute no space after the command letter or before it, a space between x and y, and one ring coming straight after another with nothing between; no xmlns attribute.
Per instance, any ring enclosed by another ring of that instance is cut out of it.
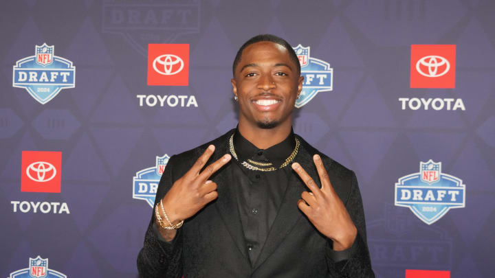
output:
<svg viewBox="0 0 495 278"><path fill-rule="evenodd" d="M304 76L303 91L296 100L296 108L307 104L317 93L333 90L333 69L328 62L309 56L309 47L293 47Z"/></svg>

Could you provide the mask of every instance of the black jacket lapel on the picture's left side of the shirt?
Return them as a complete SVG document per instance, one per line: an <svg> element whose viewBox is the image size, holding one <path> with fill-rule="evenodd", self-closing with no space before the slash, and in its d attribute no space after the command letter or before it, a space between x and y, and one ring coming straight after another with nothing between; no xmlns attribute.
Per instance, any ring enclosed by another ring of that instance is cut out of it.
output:
<svg viewBox="0 0 495 278"><path fill-rule="evenodd" d="M215 151L215 159L212 160L212 162L219 159L223 154L228 153L226 148L228 138L230 137L227 137L227 140L221 142L224 146L217 146L217 150ZM219 170L214 178L212 178L212 181L217 183L218 198L215 205L237 248L239 248L239 251L245 257L248 264L250 264L250 259L245 247L246 245L243 227L241 224L241 216L239 216L239 207L237 205L237 192L236 188L232 184L233 177L231 167L232 161L225 165L223 169Z"/></svg>

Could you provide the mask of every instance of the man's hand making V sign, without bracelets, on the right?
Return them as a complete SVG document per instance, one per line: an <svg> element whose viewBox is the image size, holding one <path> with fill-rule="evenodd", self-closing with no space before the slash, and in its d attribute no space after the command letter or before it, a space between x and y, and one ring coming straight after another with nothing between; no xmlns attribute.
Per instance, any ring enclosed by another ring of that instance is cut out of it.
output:
<svg viewBox="0 0 495 278"><path fill-rule="evenodd" d="M299 163L292 163L292 169L303 179L311 192L303 192L298 207L322 233L333 241L333 250L350 248L358 234L344 203L333 189L330 179L318 154L313 157L322 184L321 189Z"/></svg>

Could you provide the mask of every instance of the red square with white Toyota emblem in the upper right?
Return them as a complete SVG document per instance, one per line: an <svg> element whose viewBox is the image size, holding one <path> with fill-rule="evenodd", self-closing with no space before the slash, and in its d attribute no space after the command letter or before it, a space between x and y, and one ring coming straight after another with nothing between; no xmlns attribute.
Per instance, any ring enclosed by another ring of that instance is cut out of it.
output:
<svg viewBox="0 0 495 278"><path fill-rule="evenodd" d="M455 88L455 45L411 45L411 88Z"/></svg>

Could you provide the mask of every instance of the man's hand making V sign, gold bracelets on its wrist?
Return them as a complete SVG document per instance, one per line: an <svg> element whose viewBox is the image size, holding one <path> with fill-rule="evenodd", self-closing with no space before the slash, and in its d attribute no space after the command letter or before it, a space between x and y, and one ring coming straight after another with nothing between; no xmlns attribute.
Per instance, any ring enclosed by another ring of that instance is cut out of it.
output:
<svg viewBox="0 0 495 278"><path fill-rule="evenodd" d="M206 165L206 162L210 159L213 152L214 146L208 146L206 151L201 154L201 157L197 159L190 170L175 181L162 199L168 219L173 224L177 224L181 220L186 220L187 218L194 216L200 209L206 206L208 202L217 198L217 184L208 180L208 178L210 178L214 172L217 172L223 165L228 163L231 157L230 154L225 154L221 159L211 163L203 172L201 172L201 169ZM167 224L162 211L159 211L159 213ZM159 230L162 235L167 235L166 240L172 240L175 236L175 230L173 230L173 235L171 235L170 232L166 233L167 230L164 230L161 227Z"/></svg>

